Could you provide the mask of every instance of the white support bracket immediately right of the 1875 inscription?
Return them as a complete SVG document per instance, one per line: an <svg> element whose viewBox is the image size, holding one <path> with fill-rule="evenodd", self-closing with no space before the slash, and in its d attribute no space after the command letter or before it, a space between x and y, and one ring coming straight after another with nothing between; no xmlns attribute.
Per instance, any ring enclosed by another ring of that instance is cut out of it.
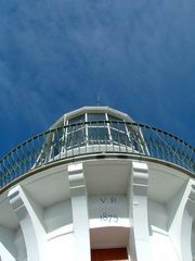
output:
<svg viewBox="0 0 195 261"><path fill-rule="evenodd" d="M129 246L132 261L152 261L147 219L147 165L132 162Z"/></svg>

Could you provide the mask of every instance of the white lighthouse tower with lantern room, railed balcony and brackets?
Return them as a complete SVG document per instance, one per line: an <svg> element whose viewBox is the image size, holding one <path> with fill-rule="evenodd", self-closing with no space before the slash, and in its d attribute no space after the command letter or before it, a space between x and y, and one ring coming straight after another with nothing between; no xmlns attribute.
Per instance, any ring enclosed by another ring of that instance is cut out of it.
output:
<svg viewBox="0 0 195 261"><path fill-rule="evenodd" d="M0 160L0 261L193 261L195 149L108 107Z"/></svg>

